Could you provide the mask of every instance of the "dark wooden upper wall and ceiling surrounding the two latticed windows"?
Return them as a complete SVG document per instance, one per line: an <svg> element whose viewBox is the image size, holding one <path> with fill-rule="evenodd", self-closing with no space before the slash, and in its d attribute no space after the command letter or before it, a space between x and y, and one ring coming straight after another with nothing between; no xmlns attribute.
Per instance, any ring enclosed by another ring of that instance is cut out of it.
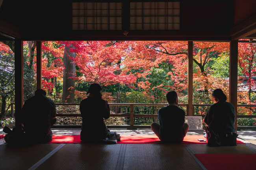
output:
<svg viewBox="0 0 256 170"><path fill-rule="evenodd" d="M163 2L164 0L156 0ZM71 1L4 0L0 8L0 38L22 40L213 40L229 41L255 36L256 1L181 0L178 30L130 29L130 0L122 2L121 30L73 30ZM87 0L86 2L103 2ZM137 2L137 1L136 1ZM154 2L142 0L141 2ZM124 31L128 35L124 35Z"/></svg>

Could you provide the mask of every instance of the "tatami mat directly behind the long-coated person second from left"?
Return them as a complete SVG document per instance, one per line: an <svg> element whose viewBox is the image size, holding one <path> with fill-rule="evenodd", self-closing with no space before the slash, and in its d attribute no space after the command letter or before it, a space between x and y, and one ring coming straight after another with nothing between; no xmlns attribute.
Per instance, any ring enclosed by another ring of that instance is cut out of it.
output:
<svg viewBox="0 0 256 170"><path fill-rule="evenodd" d="M120 144L66 144L37 170L112 170L120 148Z"/></svg>

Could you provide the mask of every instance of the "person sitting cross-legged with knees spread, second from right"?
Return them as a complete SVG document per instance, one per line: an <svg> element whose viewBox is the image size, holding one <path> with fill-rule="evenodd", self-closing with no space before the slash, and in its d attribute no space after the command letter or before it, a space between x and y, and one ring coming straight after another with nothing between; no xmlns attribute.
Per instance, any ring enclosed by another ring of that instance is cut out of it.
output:
<svg viewBox="0 0 256 170"><path fill-rule="evenodd" d="M151 124L152 131L159 137L162 143L182 143L189 129L185 122L186 113L178 107L178 95L175 91L166 94L168 106L158 111L160 124Z"/></svg>

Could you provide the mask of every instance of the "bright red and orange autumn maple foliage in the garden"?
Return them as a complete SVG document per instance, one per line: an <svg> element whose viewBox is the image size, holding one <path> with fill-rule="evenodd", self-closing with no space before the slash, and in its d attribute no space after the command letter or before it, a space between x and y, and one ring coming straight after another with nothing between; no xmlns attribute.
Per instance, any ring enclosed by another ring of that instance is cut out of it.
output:
<svg viewBox="0 0 256 170"><path fill-rule="evenodd" d="M24 42L28 48L26 60L33 65L35 82L36 50L33 42ZM70 47L70 56L65 47ZM0 42L0 51L11 53L9 46ZM34 53L31 55L31 51ZM165 93L176 90L180 102L187 103L187 42L186 41L46 41L42 42L42 85L48 95L61 102L63 93L64 54L75 66L74 77L76 102L86 97L90 83L96 82L106 91L104 98L111 102L163 103ZM229 43L193 42L193 89L194 103L210 104L211 92L223 89L228 96L229 90ZM239 84L238 102L255 104L256 102L256 43L239 43ZM116 92L119 91L119 99ZM134 93L136 91L136 93ZM3 93L3 92L2 92ZM145 100L135 99L140 96ZM129 99L129 100L128 100ZM147 100L146 100L147 99ZM251 108L241 112L252 114ZM205 113L198 110L197 113Z"/></svg>

